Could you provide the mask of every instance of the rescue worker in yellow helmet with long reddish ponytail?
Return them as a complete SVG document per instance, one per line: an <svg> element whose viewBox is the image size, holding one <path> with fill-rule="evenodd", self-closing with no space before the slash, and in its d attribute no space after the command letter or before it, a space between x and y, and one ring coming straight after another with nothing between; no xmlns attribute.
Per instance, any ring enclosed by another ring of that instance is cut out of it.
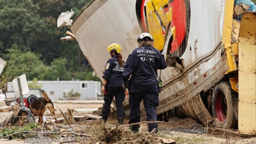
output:
<svg viewBox="0 0 256 144"><path fill-rule="evenodd" d="M122 74L124 71L125 61L122 59L122 48L119 44L113 43L108 46L109 54L112 58L108 60L105 66L105 73L102 76L103 83L101 91L104 93L104 104L102 108L102 120L106 123L110 113L110 105L115 96L116 100L116 115L118 124L124 122L125 112L123 102L125 92L122 88Z"/></svg>

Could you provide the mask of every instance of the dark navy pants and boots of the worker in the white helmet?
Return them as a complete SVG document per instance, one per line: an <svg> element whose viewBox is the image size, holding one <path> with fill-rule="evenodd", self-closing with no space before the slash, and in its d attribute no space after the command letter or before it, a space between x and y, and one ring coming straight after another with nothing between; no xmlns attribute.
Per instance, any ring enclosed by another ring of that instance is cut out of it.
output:
<svg viewBox="0 0 256 144"><path fill-rule="evenodd" d="M143 100L144 108L147 113L147 121L157 121L156 107L159 105L159 97L157 92L138 92L129 93L130 104L130 121L129 124L140 122L140 103ZM130 127L132 131L138 131L140 125L134 125ZM154 128L158 128L158 124L148 124L148 132L151 132Z"/></svg>

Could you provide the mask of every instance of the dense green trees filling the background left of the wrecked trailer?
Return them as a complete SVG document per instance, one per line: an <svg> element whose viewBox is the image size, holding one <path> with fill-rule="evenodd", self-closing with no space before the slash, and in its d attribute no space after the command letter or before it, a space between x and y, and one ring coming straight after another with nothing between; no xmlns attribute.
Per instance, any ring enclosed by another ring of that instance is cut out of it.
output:
<svg viewBox="0 0 256 144"><path fill-rule="evenodd" d="M61 42L67 27L57 28L61 12L73 9L71 19L91 0L0 0L0 57L7 65L4 83L25 73L28 80L99 80L76 41Z"/></svg>

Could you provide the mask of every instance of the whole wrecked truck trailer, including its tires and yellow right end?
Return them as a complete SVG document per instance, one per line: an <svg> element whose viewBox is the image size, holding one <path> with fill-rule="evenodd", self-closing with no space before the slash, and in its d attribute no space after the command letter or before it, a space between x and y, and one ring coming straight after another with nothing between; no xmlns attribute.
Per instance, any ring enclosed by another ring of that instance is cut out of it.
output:
<svg viewBox="0 0 256 144"><path fill-rule="evenodd" d="M121 44L126 60L137 48L137 36L151 33L168 65L161 72L159 118L177 109L202 124L214 120L220 127L255 134L256 15L248 11L256 9L250 0L240 2L93 0L70 29L101 80L109 44ZM128 99L124 105L129 115Z"/></svg>

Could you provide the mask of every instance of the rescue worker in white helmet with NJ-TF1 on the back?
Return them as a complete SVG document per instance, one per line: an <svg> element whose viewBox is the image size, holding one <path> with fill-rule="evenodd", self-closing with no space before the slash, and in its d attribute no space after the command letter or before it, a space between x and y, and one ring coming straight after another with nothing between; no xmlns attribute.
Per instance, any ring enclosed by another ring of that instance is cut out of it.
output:
<svg viewBox="0 0 256 144"><path fill-rule="evenodd" d="M141 100L143 100L147 121L157 121L156 107L159 105L157 70L166 68L164 56L153 47L153 37L149 33L141 33L137 42L138 48L135 48L127 58L122 76L123 88L128 87L129 90L129 124L140 122ZM131 79L129 79L130 75ZM133 125L129 128L137 133L140 125ZM158 129L156 123L148 124L148 132L155 128ZM158 130L154 133L157 132Z"/></svg>

